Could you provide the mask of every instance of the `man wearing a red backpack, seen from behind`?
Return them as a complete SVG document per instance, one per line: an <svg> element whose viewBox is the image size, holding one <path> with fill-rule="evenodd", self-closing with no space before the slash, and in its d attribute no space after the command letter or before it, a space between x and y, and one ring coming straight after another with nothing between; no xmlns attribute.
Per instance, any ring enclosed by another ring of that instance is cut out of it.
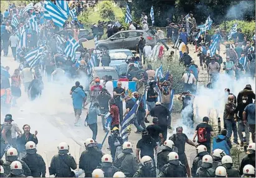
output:
<svg viewBox="0 0 256 178"><path fill-rule="evenodd" d="M193 141L196 142L197 136L197 143L199 143L199 145L206 146L207 152L211 153L211 136L214 136L214 131L212 130L212 126L208 123L208 117L202 118L202 123L197 125L194 132Z"/></svg>

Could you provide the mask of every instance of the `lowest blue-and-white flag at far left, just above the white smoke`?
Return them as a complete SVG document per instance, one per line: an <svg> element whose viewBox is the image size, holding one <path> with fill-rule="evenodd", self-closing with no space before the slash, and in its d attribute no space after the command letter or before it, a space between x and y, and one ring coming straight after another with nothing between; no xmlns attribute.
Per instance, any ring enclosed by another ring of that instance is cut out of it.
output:
<svg viewBox="0 0 256 178"><path fill-rule="evenodd" d="M41 47L37 47L26 54L24 59L27 61L27 63L31 68L39 65L43 51L44 51L44 45L42 45Z"/></svg>

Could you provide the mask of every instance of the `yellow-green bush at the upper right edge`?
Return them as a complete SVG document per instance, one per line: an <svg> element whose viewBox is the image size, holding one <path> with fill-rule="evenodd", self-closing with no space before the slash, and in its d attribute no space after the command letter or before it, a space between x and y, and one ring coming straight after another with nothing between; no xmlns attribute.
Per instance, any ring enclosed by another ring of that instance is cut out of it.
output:
<svg viewBox="0 0 256 178"><path fill-rule="evenodd" d="M225 29L224 27L226 27L226 31L229 33L235 23L238 24L238 29L242 29L242 32L245 33L247 40L252 40L255 30L255 21L246 22L244 20L230 20L225 21L225 23L222 22L222 24L220 24L220 28Z"/></svg>

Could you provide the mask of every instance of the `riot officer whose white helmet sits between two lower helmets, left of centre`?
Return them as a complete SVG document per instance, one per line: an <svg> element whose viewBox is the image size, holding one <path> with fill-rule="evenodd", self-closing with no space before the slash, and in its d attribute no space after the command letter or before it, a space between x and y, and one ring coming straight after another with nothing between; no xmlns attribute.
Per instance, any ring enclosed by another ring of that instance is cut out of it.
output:
<svg viewBox="0 0 256 178"><path fill-rule="evenodd" d="M113 177L115 172L118 171L118 169L112 165L113 159L110 154L104 154L102 156L102 166L100 166L100 169L104 172L105 177Z"/></svg>

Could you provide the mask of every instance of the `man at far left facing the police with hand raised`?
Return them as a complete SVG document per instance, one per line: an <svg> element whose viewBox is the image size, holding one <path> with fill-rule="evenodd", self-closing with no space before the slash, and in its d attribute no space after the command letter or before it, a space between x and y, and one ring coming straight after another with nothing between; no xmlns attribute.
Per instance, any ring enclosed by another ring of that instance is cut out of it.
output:
<svg viewBox="0 0 256 178"><path fill-rule="evenodd" d="M25 151L25 145L28 141L33 141L36 145L38 143L37 140L37 131L35 131L34 134L32 134L31 127L27 124L25 124L22 127L24 133L22 135L19 135L17 138L17 145L18 145L18 151L19 151L19 158L21 159L23 156L25 156L26 151Z"/></svg>

